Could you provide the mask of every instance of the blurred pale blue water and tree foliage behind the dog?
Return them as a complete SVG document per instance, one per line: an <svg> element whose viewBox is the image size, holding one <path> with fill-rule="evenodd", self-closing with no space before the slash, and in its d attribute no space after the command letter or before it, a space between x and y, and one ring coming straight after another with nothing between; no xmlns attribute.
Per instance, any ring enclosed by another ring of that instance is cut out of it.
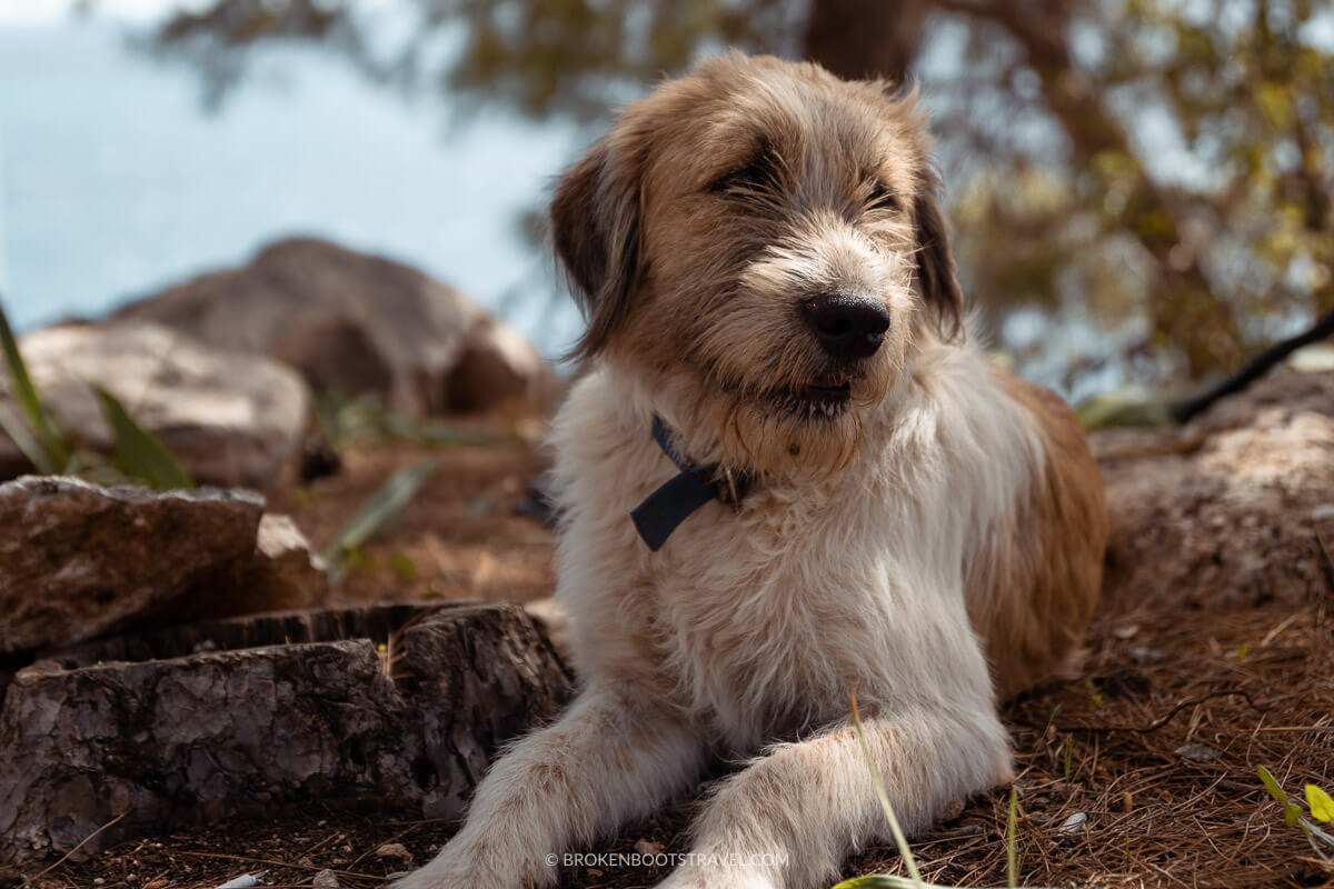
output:
<svg viewBox="0 0 1334 889"><path fill-rule="evenodd" d="M1234 371L1334 308L1314 0L0 0L5 305L96 316L300 233L558 356L554 177L727 47L920 84L966 291L1073 400Z"/></svg>

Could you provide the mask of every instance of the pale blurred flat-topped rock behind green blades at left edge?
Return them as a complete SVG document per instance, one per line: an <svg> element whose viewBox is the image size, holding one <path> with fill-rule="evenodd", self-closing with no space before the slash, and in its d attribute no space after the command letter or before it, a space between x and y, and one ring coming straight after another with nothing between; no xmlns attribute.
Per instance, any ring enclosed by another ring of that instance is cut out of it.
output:
<svg viewBox="0 0 1334 889"><path fill-rule="evenodd" d="M93 450L113 449L92 391L101 385L201 482L263 490L295 472L309 395L275 361L223 352L153 324L47 328L25 336L20 349L60 428ZM12 399L0 381L0 400ZM0 433L0 473L28 468Z"/></svg>

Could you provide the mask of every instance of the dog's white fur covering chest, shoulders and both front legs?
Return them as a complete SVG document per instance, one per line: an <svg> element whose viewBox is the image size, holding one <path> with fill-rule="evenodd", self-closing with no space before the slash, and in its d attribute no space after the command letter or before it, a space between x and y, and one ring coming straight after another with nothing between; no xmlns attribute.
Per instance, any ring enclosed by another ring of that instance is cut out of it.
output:
<svg viewBox="0 0 1334 889"><path fill-rule="evenodd" d="M864 412L848 466L767 482L739 510L711 502L658 553L628 517L675 473L650 437L655 411L696 441L690 404L628 368L595 369L560 411L556 596L584 688L496 762L467 825L402 889L547 885L546 856L652 812L715 754L751 758L707 801L694 850L787 864L699 862L663 885L827 886L886 833L850 728L854 685L908 830L1007 780L964 570L1045 457L984 357L918 347Z"/></svg>

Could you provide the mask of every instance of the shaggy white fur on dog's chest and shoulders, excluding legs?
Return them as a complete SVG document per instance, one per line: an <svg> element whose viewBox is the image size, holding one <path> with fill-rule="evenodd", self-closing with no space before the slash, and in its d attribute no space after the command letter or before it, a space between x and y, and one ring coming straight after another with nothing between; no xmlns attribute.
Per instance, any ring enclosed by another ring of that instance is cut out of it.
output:
<svg viewBox="0 0 1334 889"><path fill-rule="evenodd" d="M879 706L988 708L964 565L1014 509L1033 453L978 361L939 356L926 385L867 417L851 465L766 485L739 510L711 502L658 553L628 520L675 472L648 435L652 408L606 373L580 381L555 432L558 596L586 681L647 672L740 749L844 716L854 684Z"/></svg>

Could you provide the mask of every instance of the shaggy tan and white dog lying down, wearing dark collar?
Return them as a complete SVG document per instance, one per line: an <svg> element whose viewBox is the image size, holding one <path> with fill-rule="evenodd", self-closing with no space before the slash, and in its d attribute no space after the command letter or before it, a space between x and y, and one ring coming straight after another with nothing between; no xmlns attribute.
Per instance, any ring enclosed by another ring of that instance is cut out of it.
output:
<svg viewBox="0 0 1334 889"><path fill-rule="evenodd" d="M915 95L728 55L559 183L588 319L554 421L582 690L400 889L519 889L718 782L662 886L808 889L1011 777L998 702L1061 668L1107 520L1071 411L966 329Z"/></svg>

